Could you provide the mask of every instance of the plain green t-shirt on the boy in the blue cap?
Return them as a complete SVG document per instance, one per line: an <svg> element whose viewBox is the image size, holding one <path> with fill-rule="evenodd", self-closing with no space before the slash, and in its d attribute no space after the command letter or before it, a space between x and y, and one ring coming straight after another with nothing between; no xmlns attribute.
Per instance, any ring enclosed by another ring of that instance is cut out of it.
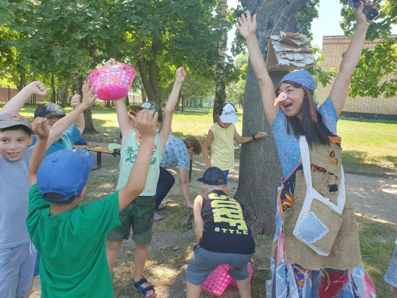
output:
<svg viewBox="0 0 397 298"><path fill-rule="evenodd" d="M113 298L105 248L107 233L120 225L119 193L49 215L50 204L33 185L26 225L42 254L41 297Z"/></svg>

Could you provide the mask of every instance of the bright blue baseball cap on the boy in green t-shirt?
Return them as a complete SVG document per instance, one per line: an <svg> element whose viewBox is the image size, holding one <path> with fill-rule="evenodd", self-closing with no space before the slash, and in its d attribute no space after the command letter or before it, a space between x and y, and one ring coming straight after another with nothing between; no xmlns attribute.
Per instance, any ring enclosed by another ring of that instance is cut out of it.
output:
<svg viewBox="0 0 397 298"><path fill-rule="evenodd" d="M67 202L77 196L87 183L94 157L85 149L59 150L44 158L37 171L37 186L44 199ZM61 195L60 199L46 197Z"/></svg>

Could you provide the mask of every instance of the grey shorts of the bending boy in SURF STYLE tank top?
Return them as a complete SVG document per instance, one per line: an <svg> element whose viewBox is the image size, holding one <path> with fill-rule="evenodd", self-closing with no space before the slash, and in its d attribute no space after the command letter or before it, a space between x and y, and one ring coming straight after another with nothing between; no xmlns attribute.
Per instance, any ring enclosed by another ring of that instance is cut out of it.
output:
<svg viewBox="0 0 397 298"><path fill-rule="evenodd" d="M253 255L212 252L197 245L188 265L187 279L192 285L201 285L218 265L229 264L230 277L237 281L245 280L248 278L247 264Z"/></svg>

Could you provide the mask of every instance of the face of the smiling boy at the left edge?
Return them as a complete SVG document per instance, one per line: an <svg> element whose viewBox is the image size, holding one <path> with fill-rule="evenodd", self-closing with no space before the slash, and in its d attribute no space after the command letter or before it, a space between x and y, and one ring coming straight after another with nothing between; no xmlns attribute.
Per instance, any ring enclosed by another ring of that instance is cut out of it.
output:
<svg viewBox="0 0 397 298"><path fill-rule="evenodd" d="M21 160L32 142L33 137L21 128L0 132L0 156L9 161Z"/></svg>

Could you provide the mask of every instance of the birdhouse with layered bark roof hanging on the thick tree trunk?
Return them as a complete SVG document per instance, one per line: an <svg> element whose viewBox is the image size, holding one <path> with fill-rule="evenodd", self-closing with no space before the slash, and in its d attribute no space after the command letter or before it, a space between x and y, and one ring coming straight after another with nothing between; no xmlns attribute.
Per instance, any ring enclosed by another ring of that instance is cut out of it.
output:
<svg viewBox="0 0 397 298"><path fill-rule="evenodd" d="M282 32L270 35L266 67L269 72L284 72L312 67L314 58L306 35Z"/></svg>

